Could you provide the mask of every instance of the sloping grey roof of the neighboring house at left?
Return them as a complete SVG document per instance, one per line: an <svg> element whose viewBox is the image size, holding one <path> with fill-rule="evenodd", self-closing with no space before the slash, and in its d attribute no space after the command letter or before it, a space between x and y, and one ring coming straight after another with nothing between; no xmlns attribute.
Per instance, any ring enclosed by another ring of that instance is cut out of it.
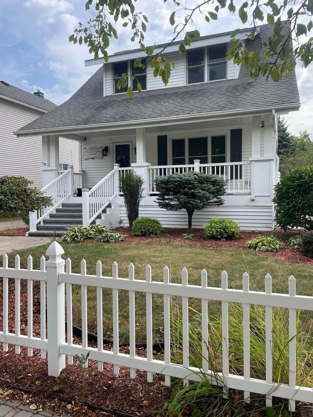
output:
<svg viewBox="0 0 313 417"><path fill-rule="evenodd" d="M21 104L36 107L39 110L50 111L57 107L57 105L52 103L50 100L38 97L32 93L22 90L21 88L11 86L10 84L7 86L6 84L0 82L0 96L16 100Z"/></svg>

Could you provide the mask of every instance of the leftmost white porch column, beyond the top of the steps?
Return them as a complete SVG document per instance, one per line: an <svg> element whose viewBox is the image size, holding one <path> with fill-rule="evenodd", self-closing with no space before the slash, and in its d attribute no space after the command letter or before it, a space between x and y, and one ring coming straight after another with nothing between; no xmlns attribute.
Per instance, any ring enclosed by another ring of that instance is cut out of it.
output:
<svg viewBox="0 0 313 417"><path fill-rule="evenodd" d="M44 135L43 143L43 185L47 185L58 176L59 136Z"/></svg>

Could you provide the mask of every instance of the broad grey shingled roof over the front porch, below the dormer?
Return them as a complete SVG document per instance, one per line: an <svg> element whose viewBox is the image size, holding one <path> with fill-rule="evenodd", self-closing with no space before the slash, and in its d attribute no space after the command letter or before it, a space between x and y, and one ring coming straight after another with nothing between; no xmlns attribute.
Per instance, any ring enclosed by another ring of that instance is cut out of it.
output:
<svg viewBox="0 0 313 417"><path fill-rule="evenodd" d="M260 34L266 39L272 27L260 27ZM249 49L256 47L254 41L247 41ZM258 110L299 104L299 93L295 73L278 83L259 77L254 80L245 66L240 69L238 79L221 80L212 83L193 84L173 88L134 93L128 100L125 94L103 96L103 70L96 71L89 80L69 99L55 110L41 116L22 132L62 131L63 128L104 126L136 121L154 121L175 117L210 115L230 111Z"/></svg>

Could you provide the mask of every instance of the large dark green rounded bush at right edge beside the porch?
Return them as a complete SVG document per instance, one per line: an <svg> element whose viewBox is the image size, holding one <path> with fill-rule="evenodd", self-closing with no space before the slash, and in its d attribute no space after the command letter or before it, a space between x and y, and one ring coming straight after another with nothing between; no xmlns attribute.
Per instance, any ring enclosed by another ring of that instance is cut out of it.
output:
<svg viewBox="0 0 313 417"><path fill-rule="evenodd" d="M313 165L295 168L275 186L275 221L282 229L313 230Z"/></svg>

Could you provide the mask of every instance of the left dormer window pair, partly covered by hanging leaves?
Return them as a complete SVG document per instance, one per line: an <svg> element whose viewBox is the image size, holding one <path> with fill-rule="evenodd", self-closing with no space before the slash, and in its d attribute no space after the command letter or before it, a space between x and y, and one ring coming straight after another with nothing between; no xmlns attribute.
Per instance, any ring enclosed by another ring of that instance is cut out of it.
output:
<svg viewBox="0 0 313 417"><path fill-rule="evenodd" d="M137 91L138 83L140 83L141 89L147 89L146 60L141 60L141 64L144 65L144 68L135 66L135 61L136 60L117 62L113 64L113 88L115 94L127 92L128 86L132 86L134 91ZM126 87L117 88L117 83L123 74L127 74L127 85Z"/></svg>

